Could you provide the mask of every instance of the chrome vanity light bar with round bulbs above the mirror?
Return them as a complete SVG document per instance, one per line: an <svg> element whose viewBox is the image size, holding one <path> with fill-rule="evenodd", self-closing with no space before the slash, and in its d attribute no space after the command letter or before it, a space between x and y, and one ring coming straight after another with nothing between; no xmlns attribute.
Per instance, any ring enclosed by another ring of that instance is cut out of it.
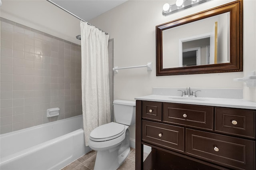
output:
<svg viewBox="0 0 256 170"><path fill-rule="evenodd" d="M193 6L197 6L211 0L176 0L176 4L169 5L168 3L163 6L163 16L168 16L175 12L186 10Z"/></svg>

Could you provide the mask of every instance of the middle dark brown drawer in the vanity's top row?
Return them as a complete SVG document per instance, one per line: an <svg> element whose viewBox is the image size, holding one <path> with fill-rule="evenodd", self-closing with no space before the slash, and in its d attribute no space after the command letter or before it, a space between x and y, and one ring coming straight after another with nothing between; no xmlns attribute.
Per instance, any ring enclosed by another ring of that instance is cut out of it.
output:
<svg viewBox="0 0 256 170"><path fill-rule="evenodd" d="M214 107L163 103L163 121L213 130Z"/></svg>

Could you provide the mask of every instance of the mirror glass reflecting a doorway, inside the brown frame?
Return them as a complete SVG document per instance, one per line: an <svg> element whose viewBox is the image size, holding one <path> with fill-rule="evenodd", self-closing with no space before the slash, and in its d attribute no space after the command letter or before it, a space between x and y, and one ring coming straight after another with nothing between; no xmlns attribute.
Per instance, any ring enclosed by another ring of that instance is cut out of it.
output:
<svg viewBox="0 0 256 170"><path fill-rule="evenodd" d="M164 30L163 68L229 63L229 23L226 12Z"/></svg>

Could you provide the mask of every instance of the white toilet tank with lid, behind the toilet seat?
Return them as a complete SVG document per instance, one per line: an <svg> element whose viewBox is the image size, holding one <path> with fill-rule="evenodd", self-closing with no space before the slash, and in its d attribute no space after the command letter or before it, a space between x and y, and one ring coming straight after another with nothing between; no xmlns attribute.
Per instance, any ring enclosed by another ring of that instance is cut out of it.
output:
<svg viewBox="0 0 256 170"><path fill-rule="evenodd" d="M135 101L114 100L114 116L117 123L135 125Z"/></svg>

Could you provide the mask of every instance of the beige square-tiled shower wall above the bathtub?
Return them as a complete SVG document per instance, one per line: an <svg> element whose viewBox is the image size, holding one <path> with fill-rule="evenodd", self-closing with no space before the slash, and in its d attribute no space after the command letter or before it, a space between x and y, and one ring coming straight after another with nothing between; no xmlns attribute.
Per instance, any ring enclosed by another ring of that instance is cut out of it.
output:
<svg viewBox="0 0 256 170"><path fill-rule="evenodd" d="M1 134L82 114L80 45L1 18L0 62Z"/></svg>

